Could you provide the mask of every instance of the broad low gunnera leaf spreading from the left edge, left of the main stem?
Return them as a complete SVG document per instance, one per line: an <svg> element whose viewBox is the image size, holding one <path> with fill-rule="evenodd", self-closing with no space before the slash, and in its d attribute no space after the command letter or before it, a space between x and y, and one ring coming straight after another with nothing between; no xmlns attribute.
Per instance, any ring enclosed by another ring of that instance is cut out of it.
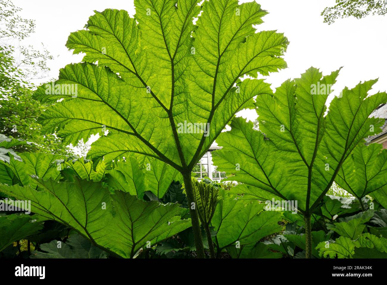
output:
<svg viewBox="0 0 387 285"><path fill-rule="evenodd" d="M145 202L120 191L111 194L99 182L36 180L29 186L0 185L0 190L31 201L31 211L73 228L94 245L118 256L134 257L144 245L154 245L190 227L180 218L178 204Z"/></svg>

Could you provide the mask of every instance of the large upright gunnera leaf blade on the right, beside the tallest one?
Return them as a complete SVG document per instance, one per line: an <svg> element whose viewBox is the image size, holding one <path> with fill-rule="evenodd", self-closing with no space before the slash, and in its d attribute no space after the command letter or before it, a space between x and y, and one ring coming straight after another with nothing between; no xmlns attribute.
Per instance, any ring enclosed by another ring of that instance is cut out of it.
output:
<svg viewBox="0 0 387 285"><path fill-rule="evenodd" d="M231 131L217 138L223 149L214 152L214 164L235 173L232 180L258 188L248 192L256 199L275 195L298 201L300 212L313 212L356 145L373 135L369 126L378 131L381 121L368 116L387 101L386 93L368 96L377 81L371 80L345 88L328 110L338 73L322 76L311 67L301 78L285 81L274 96L257 97L260 131L233 119Z"/></svg>

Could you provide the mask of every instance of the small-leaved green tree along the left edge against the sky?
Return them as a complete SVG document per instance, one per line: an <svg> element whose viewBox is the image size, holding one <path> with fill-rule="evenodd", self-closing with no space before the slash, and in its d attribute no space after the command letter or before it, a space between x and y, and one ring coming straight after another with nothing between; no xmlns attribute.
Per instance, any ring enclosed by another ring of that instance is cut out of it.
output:
<svg viewBox="0 0 387 285"><path fill-rule="evenodd" d="M53 134L43 135L36 121L46 106L33 100L35 88L31 80L46 76L50 70L47 60L53 57L44 48L20 45L21 40L34 33L35 27L33 20L17 15L20 10L9 0L0 1L0 133L34 142L17 146L15 150L19 152L65 154L60 140Z"/></svg>

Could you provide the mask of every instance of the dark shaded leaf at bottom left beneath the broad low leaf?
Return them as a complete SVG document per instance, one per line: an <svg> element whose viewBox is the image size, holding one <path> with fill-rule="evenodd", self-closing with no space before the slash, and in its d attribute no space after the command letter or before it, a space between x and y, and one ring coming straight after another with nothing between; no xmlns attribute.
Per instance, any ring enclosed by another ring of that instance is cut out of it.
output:
<svg viewBox="0 0 387 285"><path fill-rule="evenodd" d="M81 235L72 235L66 242L53 240L48 244L40 244L45 252L33 251L30 258L107 258L106 252L90 243Z"/></svg>

